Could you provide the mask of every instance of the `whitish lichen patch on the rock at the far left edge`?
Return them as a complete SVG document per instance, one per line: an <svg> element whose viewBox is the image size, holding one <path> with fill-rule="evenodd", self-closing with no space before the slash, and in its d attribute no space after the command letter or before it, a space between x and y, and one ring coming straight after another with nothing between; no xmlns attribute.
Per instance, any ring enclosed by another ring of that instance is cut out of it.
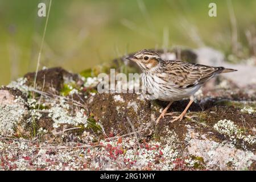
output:
<svg viewBox="0 0 256 182"><path fill-rule="evenodd" d="M23 98L17 96L11 104L0 105L0 135L11 136L14 134L14 127L27 114L24 105Z"/></svg>

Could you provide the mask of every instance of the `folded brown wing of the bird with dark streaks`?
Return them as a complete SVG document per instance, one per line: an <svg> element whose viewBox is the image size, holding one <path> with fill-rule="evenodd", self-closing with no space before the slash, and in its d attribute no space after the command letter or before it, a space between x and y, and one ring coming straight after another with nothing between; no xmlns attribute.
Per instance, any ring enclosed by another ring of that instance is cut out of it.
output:
<svg viewBox="0 0 256 182"><path fill-rule="evenodd" d="M165 72L177 88L189 88L204 84L225 68L210 67L201 64L184 63L181 61L168 61Z"/></svg>

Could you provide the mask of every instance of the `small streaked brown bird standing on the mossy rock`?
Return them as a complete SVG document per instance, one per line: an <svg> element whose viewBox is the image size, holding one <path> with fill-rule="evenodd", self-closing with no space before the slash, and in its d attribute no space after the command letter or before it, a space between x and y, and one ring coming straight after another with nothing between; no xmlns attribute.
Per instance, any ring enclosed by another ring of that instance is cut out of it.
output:
<svg viewBox="0 0 256 182"><path fill-rule="evenodd" d="M135 61L142 69L142 84L150 93L158 93L158 99L170 101L162 114L156 120L156 124L171 106L172 102L190 97L190 101L184 111L171 122L182 120L189 106L194 101L194 94L200 87L220 73L237 71L224 67L211 67L208 65L185 63L177 60L162 60L155 51L144 49L126 59Z"/></svg>

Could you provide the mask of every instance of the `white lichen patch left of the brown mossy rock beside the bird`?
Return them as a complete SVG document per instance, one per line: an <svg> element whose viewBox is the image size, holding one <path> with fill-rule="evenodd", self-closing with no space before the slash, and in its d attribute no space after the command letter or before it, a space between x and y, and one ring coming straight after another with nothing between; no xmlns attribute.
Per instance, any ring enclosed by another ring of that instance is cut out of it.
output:
<svg viewBox="0 0 256 182"><path fill-rule="evenodd" d="M83 124L85 127L87 126L87 119L85 110L80 109L76 111L74 114L70 114L69 104L65 103L64 100L60 100L60 104L57 104L56 102L52 104L51 109L49 109L49 117L52 117L54 123L53 127L57 128L60 126L60 124L71 124L71 125L79 125Z"/></svg>

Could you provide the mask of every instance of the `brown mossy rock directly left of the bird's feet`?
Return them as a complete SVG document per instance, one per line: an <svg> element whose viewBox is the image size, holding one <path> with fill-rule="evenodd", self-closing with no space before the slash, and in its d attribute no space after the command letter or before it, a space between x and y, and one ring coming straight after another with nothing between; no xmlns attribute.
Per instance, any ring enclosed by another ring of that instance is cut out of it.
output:
<svg viewBox="0 0 256 182"><path fill-rule="evenodd" d="M150 101L139 99L137 94L96 94L88 100L88 106L107 135L133 133L133 127L136 131L152 127Z"/></svg>

